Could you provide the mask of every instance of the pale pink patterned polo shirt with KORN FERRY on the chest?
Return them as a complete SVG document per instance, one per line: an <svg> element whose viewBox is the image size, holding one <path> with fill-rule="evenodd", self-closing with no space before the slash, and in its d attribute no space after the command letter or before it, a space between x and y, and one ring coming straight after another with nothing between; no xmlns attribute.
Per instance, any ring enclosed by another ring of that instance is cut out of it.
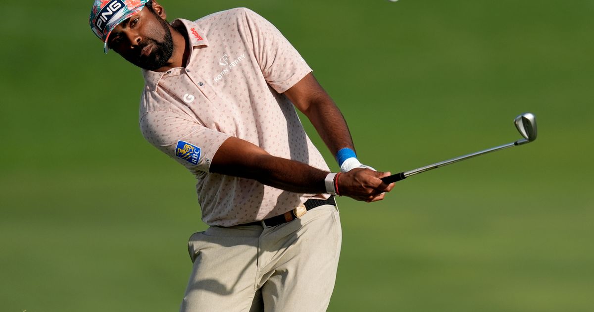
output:
<svg viewBox="0 0 594 312"><path fill-rule="evenodd" d="M229 137L329 171L282 94L311 68L280 31L246 8L172 24L187 29L192 53L186 68L143 70L140 128L147 141L195 175L202 220L219 226L249 223L285 213L310 197L328 197L209 172L212 157Z"/></svg>

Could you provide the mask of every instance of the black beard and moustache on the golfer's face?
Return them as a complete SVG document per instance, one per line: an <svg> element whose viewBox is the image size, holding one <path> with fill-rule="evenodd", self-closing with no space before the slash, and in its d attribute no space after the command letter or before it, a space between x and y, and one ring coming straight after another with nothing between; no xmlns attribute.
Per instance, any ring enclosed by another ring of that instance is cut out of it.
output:
<svg viewBox="0 0 594 312"><path fill-rule="evenodd" d="M159 24L163 27L163 39L161 41L147 38L138 43L137 53L128 55L126 59L132 64L145 70L157 70L167 64L173 55L173 37L169 30L169 24L162 18L157 17ZM153 51L149 55L143 55L143 50L152 45Z"/></svg>

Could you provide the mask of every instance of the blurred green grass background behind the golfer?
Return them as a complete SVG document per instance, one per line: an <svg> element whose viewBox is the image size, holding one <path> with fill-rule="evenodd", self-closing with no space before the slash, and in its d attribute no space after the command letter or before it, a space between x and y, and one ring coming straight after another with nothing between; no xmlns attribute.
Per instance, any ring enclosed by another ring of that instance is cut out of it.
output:
<svg viewBox="0 0 594 312"><path fill-rule="evenodd" d="M103 55L92 1L0 10L0 310L177 311L201 231L194 178L138 130L140 70ZM594 311L594 2L172 1L249 7L339 103L359 159L405 171L534 143L339 198L328 311ZM331 168L333 157L311 125Z"/></svg>

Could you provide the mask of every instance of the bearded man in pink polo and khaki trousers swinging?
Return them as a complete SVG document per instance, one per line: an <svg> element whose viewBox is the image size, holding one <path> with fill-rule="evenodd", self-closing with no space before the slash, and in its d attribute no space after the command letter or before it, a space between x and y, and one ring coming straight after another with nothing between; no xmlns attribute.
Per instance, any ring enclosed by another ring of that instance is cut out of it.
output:
<svg viewBox="0 0 594 312"><path fill-rule="evenodd" d="M245 8L167 23L156 1L96 0L90 26L143 68L140 127L197 178L202 219L181 311L324 311L340 221L334 195L377 201L390 173L356 159L346 122L280 32ZM330 173L303 112L337 156Z"/></svg>

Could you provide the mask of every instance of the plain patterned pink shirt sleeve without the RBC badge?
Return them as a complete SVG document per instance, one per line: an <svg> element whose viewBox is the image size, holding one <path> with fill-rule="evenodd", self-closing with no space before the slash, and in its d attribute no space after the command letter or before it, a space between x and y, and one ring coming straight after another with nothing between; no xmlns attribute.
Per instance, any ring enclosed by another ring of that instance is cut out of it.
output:
<svg viewBox="0 0 594 312"><path fill-rule="evenodd" d="M283 93L311 73L311 68L289 40L269 21L244 8L244 31L267 83ZM241 27L241 26L240 26Z"/></svg>

